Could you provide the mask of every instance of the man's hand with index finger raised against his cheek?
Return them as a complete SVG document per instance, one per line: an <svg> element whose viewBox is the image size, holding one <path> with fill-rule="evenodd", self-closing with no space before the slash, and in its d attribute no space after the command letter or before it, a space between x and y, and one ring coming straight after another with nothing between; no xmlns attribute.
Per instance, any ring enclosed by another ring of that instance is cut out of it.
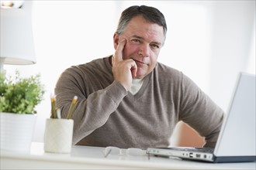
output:
<svg viewBox="0 0 256 170"><path fill-rule="evenodd" d="M137 73L137 64L133 59L123 59L123 49L126 45L126 39L120 40L114 56L112 56L112 73L114 80L119 81L126 88L130 90L132 87L132 80Z"/></svg>

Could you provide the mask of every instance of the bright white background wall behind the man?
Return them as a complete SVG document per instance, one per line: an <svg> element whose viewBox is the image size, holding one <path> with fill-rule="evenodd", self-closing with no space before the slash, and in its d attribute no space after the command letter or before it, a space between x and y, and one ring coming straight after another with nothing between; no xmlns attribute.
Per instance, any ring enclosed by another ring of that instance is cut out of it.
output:
<svg viewBox="0 0 256 170"><path fill-rule="evenodd" d="M42 75L47 93L37 107L34 141L43 141L50 93L61 72L112 54L120 13L142 4L159 8L168 23L159 61L190 76L223 110L228 108L237 73L255 73L255 1L35 1L37 63L5 66L9 73L18 68L24 76Z"/></svg>

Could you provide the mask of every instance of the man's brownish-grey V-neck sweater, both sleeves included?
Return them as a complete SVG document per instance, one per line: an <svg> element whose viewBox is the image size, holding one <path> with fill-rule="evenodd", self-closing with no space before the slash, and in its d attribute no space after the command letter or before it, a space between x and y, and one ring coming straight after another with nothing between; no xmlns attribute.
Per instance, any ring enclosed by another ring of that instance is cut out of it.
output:
<svg viewBox="0 0 256 170"><path fill-rule="evenodd" d="M113 80L108 57L65 70L55 94L63 117L78 96L74 145L168 147L175 125L184 121L206 137L206 147L214 147L223 121L223 110L206 93L161 63L135 95Z"/></svg>

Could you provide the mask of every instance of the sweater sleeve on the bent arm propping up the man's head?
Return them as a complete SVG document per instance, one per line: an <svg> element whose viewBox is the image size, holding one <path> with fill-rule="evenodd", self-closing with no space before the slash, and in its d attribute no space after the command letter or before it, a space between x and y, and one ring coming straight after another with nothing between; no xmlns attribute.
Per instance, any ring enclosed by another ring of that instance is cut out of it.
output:
<svg viewBox="0 0 256 170"><path fill-rule="evenodd" d="M62 117L67 117L71 100L75 95L78 96L72 116L74 120L73 145L105 124L110 114L116 110L127 94L125 88L116 81L106 88L87 93L86 88L92 88L93 85L88 85L89 82L85 83L85 81L85 77L79 70L70 68L61 74L55 87L56 104L58 108L61 108Z"/></svg>

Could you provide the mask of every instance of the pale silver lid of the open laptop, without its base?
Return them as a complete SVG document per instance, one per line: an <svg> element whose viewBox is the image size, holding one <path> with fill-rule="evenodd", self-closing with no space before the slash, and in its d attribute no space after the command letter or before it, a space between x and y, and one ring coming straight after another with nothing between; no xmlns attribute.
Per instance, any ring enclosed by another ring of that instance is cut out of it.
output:
<svg viewBox="0 0 256 170"><path fill-rule="evenodd" d="M240 73L214 155L256 155L255 88L255 75Z"/></svg>

